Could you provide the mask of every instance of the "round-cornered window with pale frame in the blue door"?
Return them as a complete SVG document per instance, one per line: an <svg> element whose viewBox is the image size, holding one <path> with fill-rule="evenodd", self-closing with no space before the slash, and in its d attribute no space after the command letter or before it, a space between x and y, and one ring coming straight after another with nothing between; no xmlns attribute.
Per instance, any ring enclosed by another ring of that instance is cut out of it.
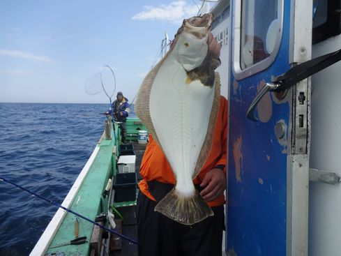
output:
<svg viewBox="0 0 341 256"><path fill-rule="evenodd" d="M233 58L237 79L271 65L280 47L282 12L283 0L243 0L236 4Z"/></svg>

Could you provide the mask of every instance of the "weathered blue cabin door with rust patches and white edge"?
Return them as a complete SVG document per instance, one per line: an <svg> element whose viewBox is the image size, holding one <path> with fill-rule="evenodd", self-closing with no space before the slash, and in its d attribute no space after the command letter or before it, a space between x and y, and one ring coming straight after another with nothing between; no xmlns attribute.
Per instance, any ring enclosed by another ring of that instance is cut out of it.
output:
<svg viewBox="0 0 341 256"><path fill-rule="evenodd" d="M246 113L267 83L310 59L312 0L231 8L226 251L306 256L310 80L265 93Z"/></svg>

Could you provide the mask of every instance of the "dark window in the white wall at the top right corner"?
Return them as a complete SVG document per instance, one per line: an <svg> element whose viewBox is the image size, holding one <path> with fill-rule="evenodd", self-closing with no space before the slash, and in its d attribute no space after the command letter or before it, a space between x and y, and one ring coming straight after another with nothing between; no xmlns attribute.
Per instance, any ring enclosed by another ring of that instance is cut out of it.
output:
<svg viewBox="0 0 341 256"><path fill-rule="evenodd" d="M314 0L312 9L312 44L341 33L341 3L335 0Z"/></svg>

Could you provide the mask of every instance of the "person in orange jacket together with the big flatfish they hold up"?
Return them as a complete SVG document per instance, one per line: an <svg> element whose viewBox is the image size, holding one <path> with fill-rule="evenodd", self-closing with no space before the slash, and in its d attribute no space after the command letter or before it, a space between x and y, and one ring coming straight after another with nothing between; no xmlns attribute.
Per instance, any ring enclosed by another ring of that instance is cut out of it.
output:
<svg viewBox="0 0 341 256"><path fill-rule="evenodd" d="M137 116L151 133L140 168L139 256L222 255L227 99L214 72L220 44L211 19L184 20L137 94Z"/></svg>

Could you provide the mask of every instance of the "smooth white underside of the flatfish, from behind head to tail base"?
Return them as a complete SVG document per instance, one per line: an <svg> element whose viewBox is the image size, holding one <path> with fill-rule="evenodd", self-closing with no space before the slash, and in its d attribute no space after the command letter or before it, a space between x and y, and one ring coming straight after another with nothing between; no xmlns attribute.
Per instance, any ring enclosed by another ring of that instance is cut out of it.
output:
<svg viewBox="0 0 341 256"><path fill-rule="evenodd" d="M149 98L149 110L160 146L176 176L176 190L195 193L192 179L204 143L213 104L214 86L200 80L186 84L187 74L169 55L158 70Z"/></svg>

